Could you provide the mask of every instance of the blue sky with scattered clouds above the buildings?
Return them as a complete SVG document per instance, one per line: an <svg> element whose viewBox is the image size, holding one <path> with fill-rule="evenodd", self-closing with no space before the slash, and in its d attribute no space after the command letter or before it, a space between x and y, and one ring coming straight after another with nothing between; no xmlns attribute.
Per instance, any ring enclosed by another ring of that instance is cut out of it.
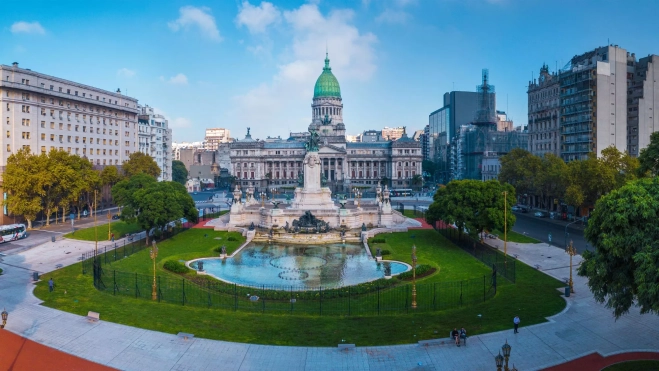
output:
<svg viewBox="0 0 659 371"><path fill-rule="evenodd" d="M0 63L116 90L169 118L175 141L305 131L326 45L349 134L422 129L490 70L521 125L543 63L618 44L659 54L653 0L12 1ZM614 22L615 20L615 22Z"/></svg>

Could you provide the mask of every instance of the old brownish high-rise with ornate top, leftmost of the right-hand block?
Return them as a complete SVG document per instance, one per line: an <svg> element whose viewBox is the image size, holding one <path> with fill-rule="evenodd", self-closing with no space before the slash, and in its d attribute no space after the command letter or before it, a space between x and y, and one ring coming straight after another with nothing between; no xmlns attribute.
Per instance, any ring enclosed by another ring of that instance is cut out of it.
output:
<svg viewBox="0 0 659 371"><path fill-rule="evenodd" d="M546 64L540 68L538 80L529 81L528 150L534 155L561 154L560 90L558 73L550 73Z"/></svg>

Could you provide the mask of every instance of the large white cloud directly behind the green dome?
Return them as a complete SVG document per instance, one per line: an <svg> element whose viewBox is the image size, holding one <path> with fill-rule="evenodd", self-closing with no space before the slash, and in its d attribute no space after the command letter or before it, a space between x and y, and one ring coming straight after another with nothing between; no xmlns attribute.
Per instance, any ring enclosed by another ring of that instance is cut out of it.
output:
<svg viewBox="0 0 659 371"><path fill-rule="evenodd" d="M252 127L255 137L281 135L287 129L306 130L311 120L308 107L314 82L322 72L326 45L339 83L368 80L376 70L377 37L360 32L353 18L351 10L323 15L315 4L283 12L283 33L292 36L280 56L286 62L278 66L270 82L234 97L230 119ZM291 121L291 117L299 118Z"/></svg>

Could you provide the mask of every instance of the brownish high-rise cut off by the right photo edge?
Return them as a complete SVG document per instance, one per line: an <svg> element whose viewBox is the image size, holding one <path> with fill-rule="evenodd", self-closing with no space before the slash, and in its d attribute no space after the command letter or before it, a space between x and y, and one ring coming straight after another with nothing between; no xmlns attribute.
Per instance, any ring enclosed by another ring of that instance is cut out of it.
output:
<svg viewBox="0 0 659 371"><path fill-rule="evenodd" d="M634 53L631 59L635 59ZM650 144L650 135L659 131L659 56L649 55L634 65L627 97L627 151L637 157Z"/></svg>

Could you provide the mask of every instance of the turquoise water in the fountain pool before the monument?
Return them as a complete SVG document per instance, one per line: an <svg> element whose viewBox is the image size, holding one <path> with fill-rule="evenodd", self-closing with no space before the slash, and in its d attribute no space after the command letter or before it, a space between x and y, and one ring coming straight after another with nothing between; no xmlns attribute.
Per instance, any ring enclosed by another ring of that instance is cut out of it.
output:
<svg viewBox="0 0 659 371"><path fill-rule="evenodd" d="M207 274L243 286L285 286L297 290L351 286L384 277L384 265L391 274L405 272L406 264L377 263L361 245L319 246L250 244L233 258L205 258Z"/></svg>

